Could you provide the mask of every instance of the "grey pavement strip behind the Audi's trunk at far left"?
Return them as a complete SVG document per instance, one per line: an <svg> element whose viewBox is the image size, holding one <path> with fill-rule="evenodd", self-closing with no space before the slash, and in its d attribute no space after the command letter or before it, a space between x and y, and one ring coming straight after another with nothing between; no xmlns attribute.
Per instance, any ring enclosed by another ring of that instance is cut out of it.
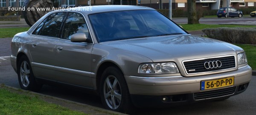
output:
<svg viewBox="0 0 256 115"><path fill-rule="evenodd" d="M24 18L20 21L0 21L0 28L29 27Z"/></svg>

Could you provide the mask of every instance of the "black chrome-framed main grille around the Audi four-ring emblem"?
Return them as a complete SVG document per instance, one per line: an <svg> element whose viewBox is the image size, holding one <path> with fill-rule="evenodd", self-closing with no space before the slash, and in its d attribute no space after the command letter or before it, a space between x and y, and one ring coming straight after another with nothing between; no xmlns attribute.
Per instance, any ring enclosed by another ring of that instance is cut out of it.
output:
<svg viewBox="0 0 256 115"><path fill-rule="evenodd" d="M204 67L205 62L212 61L221 61L221 67L209 68ZM187 74L196 74L196 73L207 73L220 70L228 70L236 68L236 59L235 56L219 56L216 58L210 59L197 59L192 61L183 61L183 66L185 67Z"/></svg>

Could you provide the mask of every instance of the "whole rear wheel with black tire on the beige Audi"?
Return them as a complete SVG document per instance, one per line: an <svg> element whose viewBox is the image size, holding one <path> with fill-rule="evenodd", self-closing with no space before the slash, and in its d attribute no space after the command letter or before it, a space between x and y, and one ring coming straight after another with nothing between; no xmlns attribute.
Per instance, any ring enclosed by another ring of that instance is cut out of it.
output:
<svg viewBox="0 0 256 115"><path fill-rule="evenodd" d="M17 74L20 88L23 90L31 90L37 92L41 89L41 84L35 80L32 67L29 59L26 56L21 56L17 65Z"/></svg>

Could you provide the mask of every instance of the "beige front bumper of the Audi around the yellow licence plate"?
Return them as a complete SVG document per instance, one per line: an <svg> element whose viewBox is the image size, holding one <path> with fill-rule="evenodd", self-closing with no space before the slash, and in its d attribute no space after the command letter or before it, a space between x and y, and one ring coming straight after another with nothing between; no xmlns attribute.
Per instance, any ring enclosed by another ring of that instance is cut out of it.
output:
<svg viewBox="0 0 256 115"><path fill-rule="evenodd" d="M201 81L212 80L212 79L221 79L234 76L234 85L230 87L222 87L214 90L200 90ZM238 70L226 72L226 73L218 73L207 76L196 76L196 77L183 77L183 76L174 76L174 77L161 77L161 78L143 78L136 76L125 76L126 82L128 84L128 89L131 94L131 99L133 102L138 102L142 100L143 102L151 102L154 99L158 98L159 103L161 99L165 95L177 95L178 97L183 96L186 97L185 101L178 101L178 103L189 103L195 101L194 93L201 93L207 91L215 91L221 89L227 89L231 87L236 87L236 91L232 95L236 95L241 93L238 87L244 84L249 83L252 77L252 69L250 66L240 67ZM245 89L244 89L245 90ZM224 96L232 96L232 95L223 95L218 98L222 98ZM147 98L145 98L147 97ZM217 98L217 97L215 97ZM148 99L148 100L147 100ZM145 101L147 100L147 101ZM181 99L182 100L182 99ZM176 104L172 103L172 104ZM135 104L136 105L136 104Z"/></svg>

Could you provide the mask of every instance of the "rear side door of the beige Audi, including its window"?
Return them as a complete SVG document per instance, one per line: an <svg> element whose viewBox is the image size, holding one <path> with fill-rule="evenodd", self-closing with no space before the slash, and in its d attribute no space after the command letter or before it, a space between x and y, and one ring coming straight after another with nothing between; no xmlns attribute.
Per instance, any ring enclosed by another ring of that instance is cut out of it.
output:
<svg viewBox="0 0 256 115"><path fill-rule="evenodd" d="M32 32L33 41L29 47L35 76L55 80L55 46L59 39L65 12L56 12L45 18Z"/></svg>

